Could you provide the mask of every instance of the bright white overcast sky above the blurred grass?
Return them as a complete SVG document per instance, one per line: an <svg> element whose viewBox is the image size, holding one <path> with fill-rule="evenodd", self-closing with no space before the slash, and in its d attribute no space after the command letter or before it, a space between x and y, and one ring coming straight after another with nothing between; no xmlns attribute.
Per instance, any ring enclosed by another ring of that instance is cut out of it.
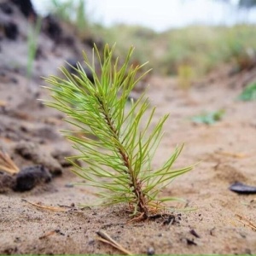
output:
<svg viewBox="0 0 256 256"><path fill-rule="evenodd" d="M253 1L240 0L84 0L85 11L91 21L104 26L124 23L148 26L157 32L173 27L201 25L234 25L239 22L256 21ZM78 0L72 1L73 4ZM52 9L51 0L32 0L35 9L42 15ZM59 0L66 4L67 1Z"/></svg>

